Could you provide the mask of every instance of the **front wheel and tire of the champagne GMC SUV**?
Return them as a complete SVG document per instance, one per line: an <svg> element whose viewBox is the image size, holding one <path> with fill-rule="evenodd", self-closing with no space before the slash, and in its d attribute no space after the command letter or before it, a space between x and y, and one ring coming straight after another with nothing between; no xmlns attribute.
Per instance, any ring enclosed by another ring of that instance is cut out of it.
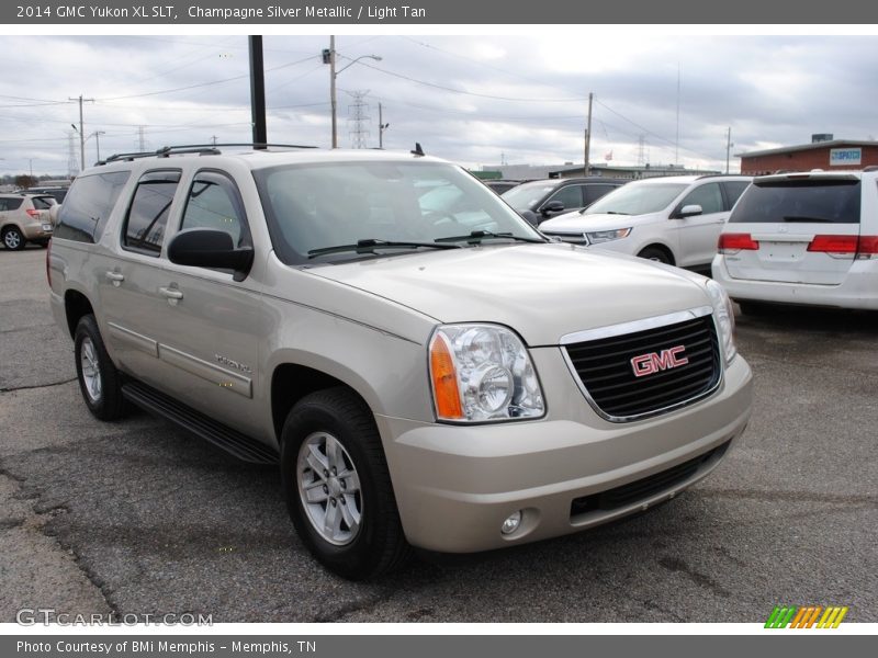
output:
<svg viewBox="0 0 878 658"><path fill-rule="evenodd" d="M286 417L281 441L286 507L320 564L349 580L364 580L405 561L410 549L384 450L360 397L328 388L302 398Z"/></svg>

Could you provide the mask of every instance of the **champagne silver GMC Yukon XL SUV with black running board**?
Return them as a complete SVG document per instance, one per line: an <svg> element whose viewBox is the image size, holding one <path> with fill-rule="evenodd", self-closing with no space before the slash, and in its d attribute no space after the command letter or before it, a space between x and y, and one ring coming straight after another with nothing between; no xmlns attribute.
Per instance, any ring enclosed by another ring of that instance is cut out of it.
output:
<svg viewBox="0 0 878 658"><path fill-rule="evenodd" d="M645 510L750 417L719 285L548 242L419 148L110 158L74 182L48 273L91 412L134 402L278 463L347 578Z"/></svg>

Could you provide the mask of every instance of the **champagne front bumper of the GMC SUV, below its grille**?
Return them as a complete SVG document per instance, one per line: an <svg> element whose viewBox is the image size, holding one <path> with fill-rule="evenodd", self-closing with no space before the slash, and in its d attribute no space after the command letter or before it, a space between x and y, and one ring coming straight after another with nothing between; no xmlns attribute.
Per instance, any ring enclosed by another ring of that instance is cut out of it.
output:
<svg viewBox="0 0 878 658"><path fill-rule="evenodd" d="M741 356L709 398L649 420L611 423L572 385L556 350L531 354L545 399L555 400L542 420L444 426L378 417L410 544L444 553L487 551L646 509L710 473L750 419L752 376ZM694 468L673 470L711 451ZM679 477L663 479L667 473ZM623 497L611 509L589 508L596 500L589 497L644 478L653 486L643 496ZM502 534L504 520L517 510L524 511L521 525Z"/></svg>

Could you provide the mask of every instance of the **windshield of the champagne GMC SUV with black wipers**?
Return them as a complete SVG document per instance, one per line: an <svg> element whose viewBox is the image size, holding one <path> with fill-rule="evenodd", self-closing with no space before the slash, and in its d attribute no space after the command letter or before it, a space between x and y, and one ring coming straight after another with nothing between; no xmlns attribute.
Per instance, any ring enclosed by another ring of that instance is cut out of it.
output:
<svg viewBox="0 0 878 658"><path fill-rule="evenodd" d="M480 181L444 162L349 161L254 171L279 258L349 260L460 240L541 240ZM506 235L503 235L506 234ZM356 249L338 249L351 246ZM394 248L408 247L394 251ZM367 252L367 253L363 253Z"/></svg>

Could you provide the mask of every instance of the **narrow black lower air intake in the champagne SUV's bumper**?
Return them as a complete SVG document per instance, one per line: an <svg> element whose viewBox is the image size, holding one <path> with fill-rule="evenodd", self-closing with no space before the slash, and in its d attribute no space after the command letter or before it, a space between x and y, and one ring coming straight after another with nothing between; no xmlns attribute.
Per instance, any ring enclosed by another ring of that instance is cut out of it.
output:
<svg viewBox="0 0 878 658"><path fill-rule="evenodd" d="M655 475L622 485L621 487L616 487L615 489L601 491L600 494L576 498L571 502L570 515L574 518L589 512L612 511L635 504L641 500L648 500L694 477L706 465L716 463L722 457L728 449L729 443L723 443L694 460L677 464L667 470L662 470Z"/></svg>

